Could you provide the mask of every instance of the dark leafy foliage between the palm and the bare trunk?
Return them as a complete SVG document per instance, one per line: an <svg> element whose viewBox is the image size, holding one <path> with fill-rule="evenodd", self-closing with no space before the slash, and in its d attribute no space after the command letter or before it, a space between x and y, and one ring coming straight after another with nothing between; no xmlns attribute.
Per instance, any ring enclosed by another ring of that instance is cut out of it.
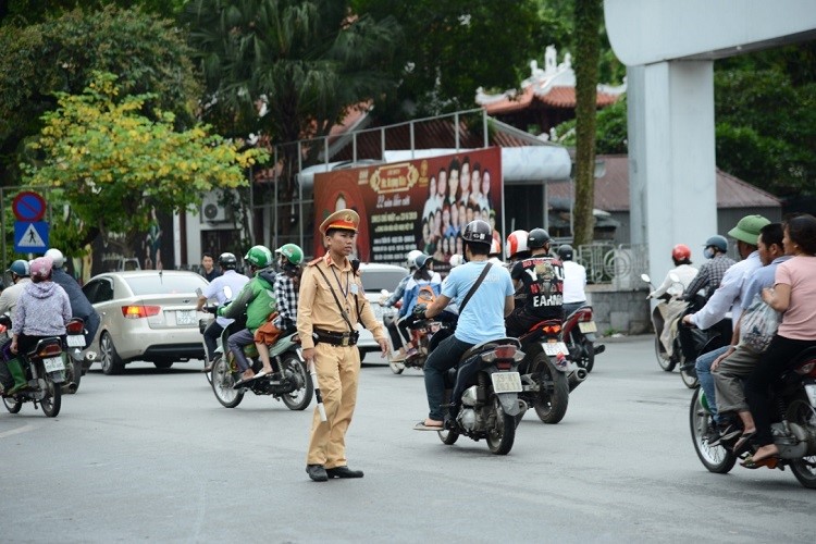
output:
<svg viewBox="0 0 816 544"><path fill-rule="evenodd" d="M475 90L515 88L536 57L537 0L356 0L358 13L393 15L403 33L392 77L399 82L376 111L384 121L475 108ZM546 42L544 42L546 45Z"/></svg>

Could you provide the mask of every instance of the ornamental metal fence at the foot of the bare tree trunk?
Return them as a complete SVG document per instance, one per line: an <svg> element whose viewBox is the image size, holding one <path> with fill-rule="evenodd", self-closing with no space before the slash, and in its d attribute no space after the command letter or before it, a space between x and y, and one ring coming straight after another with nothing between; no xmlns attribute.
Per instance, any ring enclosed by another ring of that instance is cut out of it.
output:
<svg viewBox="0 0 816 544"><path fill-rule="evenodd" d="M586 281L617 289L643 286L640 275L648 270L645 245L596 242L578 246L574 259L586 268Z"/></svg>

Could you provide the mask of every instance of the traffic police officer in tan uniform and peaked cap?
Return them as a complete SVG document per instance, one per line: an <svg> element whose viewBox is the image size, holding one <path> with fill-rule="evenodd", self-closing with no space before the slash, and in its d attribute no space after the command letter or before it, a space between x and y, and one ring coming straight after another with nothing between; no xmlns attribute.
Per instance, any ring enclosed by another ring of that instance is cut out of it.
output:
<svg viewBox="0 0 816 544"><path fill-rule="evenodd" d="M326 415L326 421L321 421L316 409L312 419L306 472L316 482L362 478L361 470L351 470L346 462L346 431L357 403L360 372L354 325L362 322L380 344L383 357L388 353L383 326L348 260L359 223L354 210L329 215L320 225L326 254L311 261L300 280L297 332L307 366L318 374Z"/></svg>

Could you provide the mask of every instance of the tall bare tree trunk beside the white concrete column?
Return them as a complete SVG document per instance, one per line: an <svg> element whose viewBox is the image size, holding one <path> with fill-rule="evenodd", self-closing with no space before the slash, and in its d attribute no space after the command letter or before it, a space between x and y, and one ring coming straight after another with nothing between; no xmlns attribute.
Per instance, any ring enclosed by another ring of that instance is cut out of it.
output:
<svg viewBox="0 0 816 544"><path fill-rule="evenodd" d="M576 203L577 245L594 238L595 110L601 50L601 0L576 0Z"/></svg>

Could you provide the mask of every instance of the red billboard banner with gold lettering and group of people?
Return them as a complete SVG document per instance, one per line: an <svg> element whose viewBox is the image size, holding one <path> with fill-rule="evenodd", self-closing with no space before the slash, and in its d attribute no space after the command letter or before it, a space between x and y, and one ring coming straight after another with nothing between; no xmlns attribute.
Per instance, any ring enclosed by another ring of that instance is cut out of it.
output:
<svg viewBox="0 0 816 544"><path fill-rule="evenodd" d="M428 159L338 170L314 176L314 224L351 208L360 214L357 257L363 262L404 264L412 249L446 270L461 255L461 228L474 219L502 225L502 152L467 150ZM323 238L314 233L314 255Z"/></svg>

